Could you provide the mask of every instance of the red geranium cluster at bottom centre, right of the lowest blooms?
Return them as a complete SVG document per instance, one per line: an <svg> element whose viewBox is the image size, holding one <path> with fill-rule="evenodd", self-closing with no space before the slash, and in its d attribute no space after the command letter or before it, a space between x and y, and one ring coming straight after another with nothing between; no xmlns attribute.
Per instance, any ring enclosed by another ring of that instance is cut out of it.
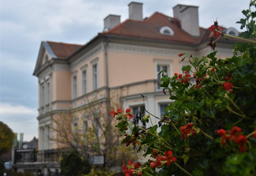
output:
<svg viewBox="0 0 256 176"><path fill-rule="evenodd" d="M154 149L153 150L153 157L156 159L155 161L152 160L150 163L152 168L161 166L162 164L166 163L167 166L170 166L172 162L176 162L177 158L172 156L172 151L164 151L164 156L163 155L158 155L157 151Z"/></svg>

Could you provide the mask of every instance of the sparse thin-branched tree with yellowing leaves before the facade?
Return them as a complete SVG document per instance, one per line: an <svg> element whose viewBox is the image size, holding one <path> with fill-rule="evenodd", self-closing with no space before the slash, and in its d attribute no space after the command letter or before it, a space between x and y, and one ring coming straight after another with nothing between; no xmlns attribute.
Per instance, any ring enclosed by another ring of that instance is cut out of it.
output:
<svg viewBox="0 0 256 176"><path fill-rule="evenodd" d="M52 117L55 135L49 140L57 142L59 147L77 150L84 159L91 155L104 155L108 168L121 167L126 159L136 160L137 156L131 154L135 152L120 144L122 138L114 128L117 123L113 117L109 118L106 104L99 103L97 98L87 102L87 106L73 113Z"/></svg>

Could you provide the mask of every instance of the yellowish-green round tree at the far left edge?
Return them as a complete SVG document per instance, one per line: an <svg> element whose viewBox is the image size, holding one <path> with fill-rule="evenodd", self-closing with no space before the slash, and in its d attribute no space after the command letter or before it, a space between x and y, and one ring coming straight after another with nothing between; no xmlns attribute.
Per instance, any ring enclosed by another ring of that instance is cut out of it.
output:
<svg viewBox="0 0 256 176"><path fill-rule="evenodd" d="M11 150L14 137L13 131L0 121L0 155Z"/></svg>

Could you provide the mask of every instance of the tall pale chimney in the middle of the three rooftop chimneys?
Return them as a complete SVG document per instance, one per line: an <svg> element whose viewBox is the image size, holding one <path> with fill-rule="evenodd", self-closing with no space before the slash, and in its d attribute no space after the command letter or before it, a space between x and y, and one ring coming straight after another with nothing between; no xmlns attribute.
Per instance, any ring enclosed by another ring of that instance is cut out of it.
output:
<svg viewBox="0 0 256 176"><path fill-rule="evenodd" d="M130 2L129 6L129 19L143 20L142 16L142 4L140 2Z"/></svg>

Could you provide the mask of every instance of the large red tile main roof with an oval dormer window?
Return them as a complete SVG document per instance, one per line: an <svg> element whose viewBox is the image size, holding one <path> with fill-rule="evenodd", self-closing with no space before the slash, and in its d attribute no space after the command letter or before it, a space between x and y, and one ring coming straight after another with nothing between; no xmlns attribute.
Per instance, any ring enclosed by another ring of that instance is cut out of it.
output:
<svg viewBox="0 0 256 176"><path fill-rule="evenodd" d="M161 34L159 29L163 26L170 27L174 31L174 35ZM127 19L123 23L111 28L109 31L100 34L139 37L153 40L168 40L192 44L198 43L202 40L202 37L205 37L204 31L206 31L206 29L200 28L200 36L193 37L181 29L180 22L177 19L155 12L144 21Z"/></svg>

